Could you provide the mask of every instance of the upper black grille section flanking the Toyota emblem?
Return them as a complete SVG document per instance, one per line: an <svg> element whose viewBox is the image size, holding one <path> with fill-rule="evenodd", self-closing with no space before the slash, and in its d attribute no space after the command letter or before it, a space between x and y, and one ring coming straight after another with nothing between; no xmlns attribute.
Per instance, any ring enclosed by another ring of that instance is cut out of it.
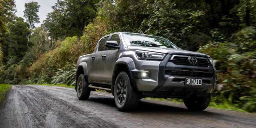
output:
<svg viewBox="0 0 256 128"><path fill-rule="evenodd" d="M169 60L169 62L173 62L175 65L190 66L190 63L188 62L188 57L189 56L173 55L173 57ZM198 67L210 66L210 63L208 62L207 58L203 58L203 57L196 57L196 58L197 58L197 64L194 66L198 66Z"/></svg>

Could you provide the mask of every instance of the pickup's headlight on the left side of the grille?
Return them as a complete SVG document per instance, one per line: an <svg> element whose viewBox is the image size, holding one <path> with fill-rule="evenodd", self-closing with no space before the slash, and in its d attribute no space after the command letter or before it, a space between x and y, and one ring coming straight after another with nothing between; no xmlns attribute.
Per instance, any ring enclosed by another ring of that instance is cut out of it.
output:
<svg viewBox="0 0 256 128"><path fill-rule="evenodd" d="M147 51L136 51L136 57L139 60L162 60L165 54L162 53L154 53L154 52L147 52Z"/></svg>

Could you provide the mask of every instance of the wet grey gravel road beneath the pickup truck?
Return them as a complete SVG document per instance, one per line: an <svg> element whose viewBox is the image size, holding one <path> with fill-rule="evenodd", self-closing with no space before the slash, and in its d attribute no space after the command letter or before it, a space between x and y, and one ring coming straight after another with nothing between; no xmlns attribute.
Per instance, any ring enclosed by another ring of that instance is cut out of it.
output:
<svg viewBox="0 0 256 128"><path fill-rule="evenodd" d="M120 112L110 93L92 91L78 100L72 88L12 86L0 110L0 128L128 127L251 128L256 114L208 108L188 111L184 104L142 99L132 112Z"/></svg>

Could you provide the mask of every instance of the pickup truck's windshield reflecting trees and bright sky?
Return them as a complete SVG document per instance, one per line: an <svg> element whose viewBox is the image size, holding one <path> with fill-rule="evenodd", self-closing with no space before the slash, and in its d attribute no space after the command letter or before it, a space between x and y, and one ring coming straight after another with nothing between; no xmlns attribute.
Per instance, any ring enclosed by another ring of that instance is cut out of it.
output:
<svg viewBox="0 0 256 128"><path fill-rule="evenodd" d="M161 47L178 49L172 42L150 35L123 33L125 43L131 46Z"/></svg>

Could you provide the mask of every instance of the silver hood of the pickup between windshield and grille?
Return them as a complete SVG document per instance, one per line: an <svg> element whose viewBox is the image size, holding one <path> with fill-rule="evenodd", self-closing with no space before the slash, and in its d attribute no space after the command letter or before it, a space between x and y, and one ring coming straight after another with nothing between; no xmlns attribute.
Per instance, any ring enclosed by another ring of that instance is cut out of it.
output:
<svg viewBox="0 0 256 128"><path fill-rule="evenodd" d="M127 46L127 48L133 49L133 50L143 50L143 51L158 52L158 53L176 54L176 55L210 57L206 54L182 50L182 49L174 49L174 48L142 47L142 46Z"/></svg>

